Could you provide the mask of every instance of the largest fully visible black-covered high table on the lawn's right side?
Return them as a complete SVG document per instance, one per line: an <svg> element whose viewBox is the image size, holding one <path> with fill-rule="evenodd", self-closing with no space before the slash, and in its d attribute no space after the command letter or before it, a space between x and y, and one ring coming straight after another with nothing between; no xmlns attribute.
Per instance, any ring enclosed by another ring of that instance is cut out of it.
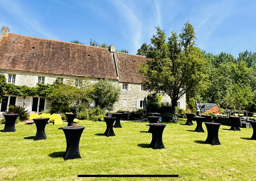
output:
<svg viewBox="0 0 256 181"><path fill-rule="evenodd" d="M218 136L220 123L204 123L208 132L207 138L204 141L205 143L209 143L211 145L220 145L220 140Z"/></svg>

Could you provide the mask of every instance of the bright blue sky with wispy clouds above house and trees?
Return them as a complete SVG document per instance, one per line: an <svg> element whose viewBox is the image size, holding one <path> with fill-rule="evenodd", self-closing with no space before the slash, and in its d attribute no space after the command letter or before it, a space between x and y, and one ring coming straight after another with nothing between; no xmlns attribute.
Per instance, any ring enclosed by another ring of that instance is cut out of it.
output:
<svg viewBox="0 0 256 181"><path fill-rule="evenodd" d="M0 26L86 45L92 39L136 54L142 43L150 43L155 27L169 37L189 20L199 48L236 58L246 49L256 52L255 9L253 0L0 0Z"/></svg>

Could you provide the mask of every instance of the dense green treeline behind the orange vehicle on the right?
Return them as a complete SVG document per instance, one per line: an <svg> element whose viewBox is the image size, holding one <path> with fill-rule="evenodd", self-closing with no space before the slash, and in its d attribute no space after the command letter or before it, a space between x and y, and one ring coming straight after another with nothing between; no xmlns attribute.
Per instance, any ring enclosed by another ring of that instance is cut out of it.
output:
<svg viewBox="0 0 256 181"><path fill-rule="evenodd" d="M222 52L204 54L208 81L187 92L186 102L216 103L224 109L256 111L256 53L240 52L237 58Z"/></svg>

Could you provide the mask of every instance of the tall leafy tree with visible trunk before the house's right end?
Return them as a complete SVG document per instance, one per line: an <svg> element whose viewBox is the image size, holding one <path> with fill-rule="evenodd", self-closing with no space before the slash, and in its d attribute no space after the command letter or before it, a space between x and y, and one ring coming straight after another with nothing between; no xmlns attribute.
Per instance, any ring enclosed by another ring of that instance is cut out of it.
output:
<svg viewBox="0 0 256 181"><path fill-rule="evenodd" d="M139 72L146 80L143 84L150 91L163 91L171 98L171 112L177 101L188 91L198 90L200 82L206 81L205 59L195 47L195 32L187 22L178 36L171 34L166 40L165 31L159 27L153 35L146 53L151 60L139 65Z"/></svg>

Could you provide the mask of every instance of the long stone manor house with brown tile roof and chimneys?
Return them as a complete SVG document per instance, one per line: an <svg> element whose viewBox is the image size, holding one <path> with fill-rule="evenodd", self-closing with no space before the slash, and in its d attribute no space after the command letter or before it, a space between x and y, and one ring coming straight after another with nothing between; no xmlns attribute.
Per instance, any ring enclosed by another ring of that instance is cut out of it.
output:
<svg viewBox="0 0 256 181"><path fill-rule="evenodd" d="M143 75L137 66L146 60L144 56L116 52L114 45L107 49L18 35L4 26L0 34L0 74L5 74L7 83L35 87L37 83L52 84L56 78L59 82L79 81L84 76L92 82L108 78L122 90L114 111L143 108L144 97L149 92L141 85ZM164 95L162 101L171 100ZM14 104L22 106L23 98L6 95L0 112ZM29 112L48 110L50 104L44 97L25 99ZM185 109L185 95L178 101L178 107Z"/></svg>

